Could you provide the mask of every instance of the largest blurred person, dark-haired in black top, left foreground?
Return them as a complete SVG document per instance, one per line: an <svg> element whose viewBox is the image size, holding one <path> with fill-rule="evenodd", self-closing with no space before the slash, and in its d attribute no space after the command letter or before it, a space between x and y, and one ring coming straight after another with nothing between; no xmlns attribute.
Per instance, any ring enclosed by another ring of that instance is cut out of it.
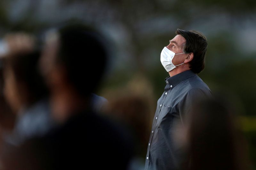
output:
<svg viewBox="0 0 256 170"><path fill-rule="evenodd" d="M13 152L6 169L127 169L132 146L126 133L92 111L91 94L107 62L105 44L81 24L61 27L47 39L41 69L60 125Z"/></svg>

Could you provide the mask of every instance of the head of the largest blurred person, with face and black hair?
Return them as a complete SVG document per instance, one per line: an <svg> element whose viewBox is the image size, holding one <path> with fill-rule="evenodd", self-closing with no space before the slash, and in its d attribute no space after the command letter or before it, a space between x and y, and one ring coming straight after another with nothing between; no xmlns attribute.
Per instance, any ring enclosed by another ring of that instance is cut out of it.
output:
<svg viewBox="0 0 256 170"><path fill-rule="evenodd" d="M105 44L99 32L83 24L66 25L46 35L41 71L51 89L54 112L61 115L85 107L105 71Z"/></svg>

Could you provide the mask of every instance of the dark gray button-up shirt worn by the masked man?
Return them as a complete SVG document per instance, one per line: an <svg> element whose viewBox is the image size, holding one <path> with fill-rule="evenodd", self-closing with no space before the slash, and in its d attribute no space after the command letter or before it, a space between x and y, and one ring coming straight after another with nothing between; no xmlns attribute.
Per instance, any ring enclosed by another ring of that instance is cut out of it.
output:
<svg viewBox="0 0 256 170"><path fill-rule="evenodd" d="M197 99L210 97L208 86L191 70L165 79L163 95L157 101L148 142L145 170L179 169L183 149L176 145L173 134L184 124ZM177 139L176 139L177 140Z"/></svg>

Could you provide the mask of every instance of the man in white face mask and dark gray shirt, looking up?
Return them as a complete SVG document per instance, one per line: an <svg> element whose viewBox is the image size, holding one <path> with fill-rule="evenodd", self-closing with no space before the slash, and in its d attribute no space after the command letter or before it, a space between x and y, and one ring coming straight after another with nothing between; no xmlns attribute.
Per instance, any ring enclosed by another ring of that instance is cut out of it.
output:
<svg viewBox="0 0 256 170"><path fill-rule="evenodd" d="M157 101L145 170L186 169L188 155L174 135L186 125L190 107L196 101L211 96L208 86L196 75L204 69L205 36L180 29L176 34L160 55L161 63L170 76L165 79L164 93Z"/></svg>

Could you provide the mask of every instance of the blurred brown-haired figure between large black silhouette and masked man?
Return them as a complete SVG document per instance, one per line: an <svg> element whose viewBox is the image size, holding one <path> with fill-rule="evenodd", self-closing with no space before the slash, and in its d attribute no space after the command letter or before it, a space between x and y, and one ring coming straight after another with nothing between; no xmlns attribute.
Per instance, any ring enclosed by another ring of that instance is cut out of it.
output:
<svg viewBox="0 0 256 170"><path fill-rule="evenodd" d="M124 91L123 91L124 92ZM144 169L144 156L147 152L147 146L150 130L150 119L148 113L150 104L148 98L134 95L131 92L126 95L118 92L119 96L113 96L109 100L108 114L115 116L118 121L125 124L131 131L135 142L135 157L132 159L129 170L143 170ZM117 93L116 93L117 95Z"/></svg>

